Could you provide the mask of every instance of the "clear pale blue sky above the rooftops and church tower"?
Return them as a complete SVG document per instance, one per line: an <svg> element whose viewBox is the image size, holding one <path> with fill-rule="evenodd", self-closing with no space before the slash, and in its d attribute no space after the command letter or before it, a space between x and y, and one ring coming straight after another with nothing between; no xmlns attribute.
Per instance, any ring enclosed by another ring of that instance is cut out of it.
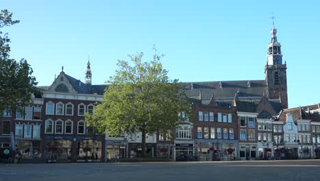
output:
<svg viewBox="0 0 320 181"><path fill-rule="evenodd" d="M320 1L1 1L18 25L6 27L11 57L26 58L40 86L64 71L103 84L117 60L164 53L181 82L264 80L276 16L287 64L289 107L319 102Z"/></svg>

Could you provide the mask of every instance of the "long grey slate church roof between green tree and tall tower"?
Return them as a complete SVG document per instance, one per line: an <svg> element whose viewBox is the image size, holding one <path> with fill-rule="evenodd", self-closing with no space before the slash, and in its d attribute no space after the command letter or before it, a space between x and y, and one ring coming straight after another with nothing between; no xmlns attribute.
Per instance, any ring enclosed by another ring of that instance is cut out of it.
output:
<svg viewBox="0 0 320 181"><path fill-rule="evenodd" d="M191 88L191 83L193 88ZM187 97L199 97L202 90L202 97L210 98L211 94L215 99L232 98L239 90L238 97L263 97L265 91L265 80L250 80L251 86L248 87L248 80L223 81L222 88L219 87L220 81L216 82L183 82Z"/></svg>

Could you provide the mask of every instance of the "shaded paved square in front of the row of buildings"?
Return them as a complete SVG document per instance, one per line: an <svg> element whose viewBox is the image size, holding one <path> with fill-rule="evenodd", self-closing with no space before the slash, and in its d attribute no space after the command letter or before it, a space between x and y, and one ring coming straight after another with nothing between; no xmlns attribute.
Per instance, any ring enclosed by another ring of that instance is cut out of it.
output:
<svg viewBox="0 0 320 181"><path fill-rule="evenodd" d="M320 160L1 164L0 180L320 180Z"/></svg>

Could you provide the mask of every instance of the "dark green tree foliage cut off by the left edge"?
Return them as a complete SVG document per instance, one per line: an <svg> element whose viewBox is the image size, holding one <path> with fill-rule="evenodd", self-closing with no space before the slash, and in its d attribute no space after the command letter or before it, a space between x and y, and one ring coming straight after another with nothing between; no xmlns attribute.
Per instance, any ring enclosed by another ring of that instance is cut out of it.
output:
<svg viewBox="0 0 320 181"><path fill-rule="evenodd" d="M8 10L0 12L0 28L19 23L12 20ZM10 59L10 38L0 31L0 112L6 108L15 109L31 101L31 94L38 93L36 78L27 60Z"/></svg>

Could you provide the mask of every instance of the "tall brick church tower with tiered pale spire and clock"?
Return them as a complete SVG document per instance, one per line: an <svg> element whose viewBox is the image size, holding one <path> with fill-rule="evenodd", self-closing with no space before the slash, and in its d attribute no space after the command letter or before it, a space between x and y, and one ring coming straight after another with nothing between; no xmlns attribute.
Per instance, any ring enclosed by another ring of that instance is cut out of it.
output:
<svg viewBox="0 0 320 181"><path fill-rule="evenodd" d="M272 22L271 42L268 45L267 64L265 65L265 84L269 99L280 99L282 108L288 108L286 86L286 62L282 62L281 45L277 40L277 29Z"/></svg>

